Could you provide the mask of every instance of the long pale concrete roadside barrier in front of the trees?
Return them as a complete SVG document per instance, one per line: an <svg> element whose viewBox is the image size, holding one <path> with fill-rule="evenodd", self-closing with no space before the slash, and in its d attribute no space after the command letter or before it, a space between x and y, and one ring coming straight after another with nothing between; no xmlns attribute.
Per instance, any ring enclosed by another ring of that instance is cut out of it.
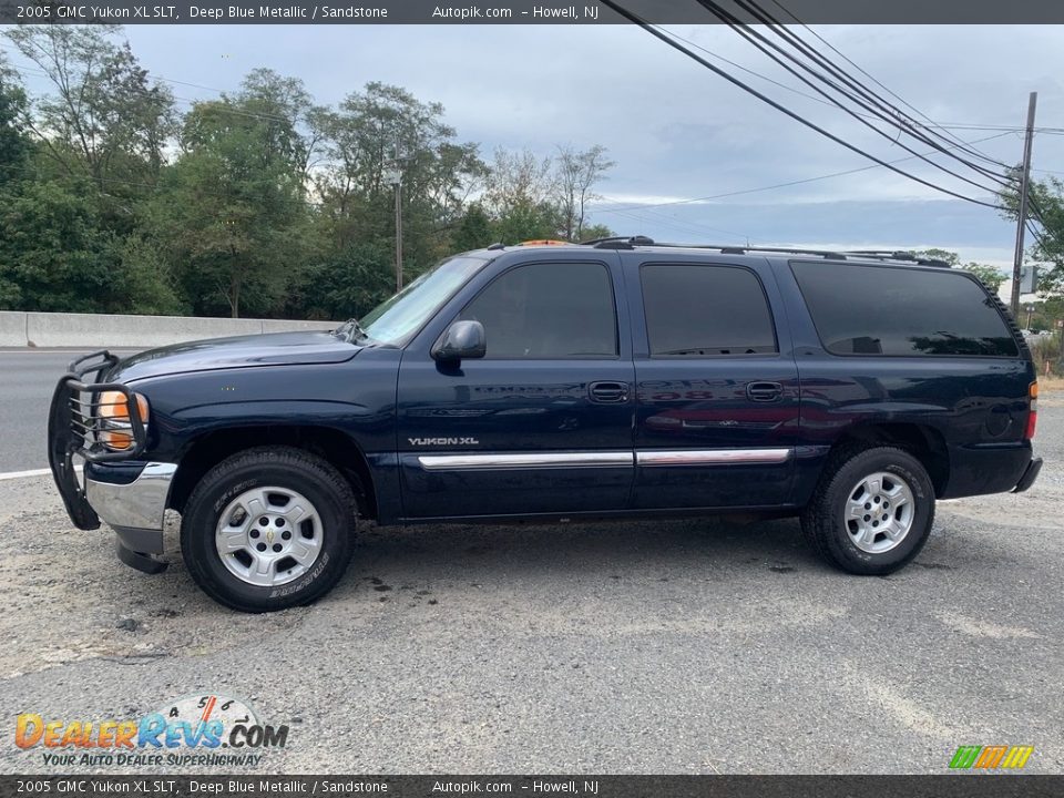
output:
<svg viewBox="0 0 1064 798"><path fill-rule="evenodd" d="M149 348L236 335L334 329L338 321L0 311L0 346Z"/></svg>

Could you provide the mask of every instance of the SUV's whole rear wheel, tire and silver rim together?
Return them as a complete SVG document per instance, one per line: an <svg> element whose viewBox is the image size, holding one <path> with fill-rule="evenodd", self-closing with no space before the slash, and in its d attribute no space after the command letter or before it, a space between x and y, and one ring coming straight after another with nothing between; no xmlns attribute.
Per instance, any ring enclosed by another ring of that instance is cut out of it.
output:
<svg viewBox="0 0 1064 798"><path fill-rule="evenodd" d="M934 487L912 454L893 447L842 450L825 467L801 529L829 563L849 573L892 573L931 534Z"/></svg>

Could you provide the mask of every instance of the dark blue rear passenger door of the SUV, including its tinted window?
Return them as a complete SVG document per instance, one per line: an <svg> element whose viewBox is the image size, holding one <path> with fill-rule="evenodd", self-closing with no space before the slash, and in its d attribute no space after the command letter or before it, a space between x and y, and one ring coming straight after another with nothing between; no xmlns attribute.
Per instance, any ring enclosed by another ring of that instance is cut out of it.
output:
<svg viewBox="0 0 1064 798"><path fill-rule="evenodd" d="M622 257L637 386L634 507L786 503L798 372L768 263Z"/></svg>

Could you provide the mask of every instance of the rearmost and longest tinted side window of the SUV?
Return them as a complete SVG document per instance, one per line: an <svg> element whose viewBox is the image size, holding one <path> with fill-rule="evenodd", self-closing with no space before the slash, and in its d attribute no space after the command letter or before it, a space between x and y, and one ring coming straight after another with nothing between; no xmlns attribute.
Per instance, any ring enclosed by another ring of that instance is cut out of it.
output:
<svg viewBox="0 0 1064 798"><path fill-rule="evenodd" d="M1019 355L983 288L964 275L889 266L790 265L835 355Z"/></svg>

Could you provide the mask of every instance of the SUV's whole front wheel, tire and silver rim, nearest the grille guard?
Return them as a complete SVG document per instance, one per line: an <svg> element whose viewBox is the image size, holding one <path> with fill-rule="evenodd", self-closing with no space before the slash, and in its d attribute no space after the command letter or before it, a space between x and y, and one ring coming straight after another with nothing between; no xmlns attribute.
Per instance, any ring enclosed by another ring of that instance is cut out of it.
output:
<svg viewBox="0 0 1064 798"><path fill-rule="evenodd" d="M357 504L350 484L300 449L249 449L211 469L181 523L196 584L241 612L309 604L350 560Z"/></svg>

